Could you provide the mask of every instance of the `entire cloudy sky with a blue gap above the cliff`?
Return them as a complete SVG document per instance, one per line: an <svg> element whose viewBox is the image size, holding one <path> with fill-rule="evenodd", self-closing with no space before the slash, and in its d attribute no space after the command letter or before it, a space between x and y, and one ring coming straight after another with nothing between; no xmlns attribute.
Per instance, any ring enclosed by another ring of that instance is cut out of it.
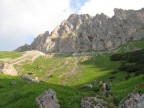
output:
<svg viewBox="0 0 144 108"><path fill-rule="evenodd" d="M0 51L30 44L70 14L104 13L112 17L114 8L141 9L144 0L0 0Z"/></svg>

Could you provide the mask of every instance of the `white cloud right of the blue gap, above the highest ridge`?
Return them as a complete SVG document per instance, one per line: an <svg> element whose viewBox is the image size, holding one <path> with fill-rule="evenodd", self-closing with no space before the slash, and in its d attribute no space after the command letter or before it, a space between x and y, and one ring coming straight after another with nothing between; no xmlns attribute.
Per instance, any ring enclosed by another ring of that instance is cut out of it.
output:
<svg viewBox="0 0 144 108"><path fill-rule="evenodd" d="M89 0L79 10L79 14L105 13L109 17L113 16L114 8L141 9L144 7L144 0Z"/></svg>

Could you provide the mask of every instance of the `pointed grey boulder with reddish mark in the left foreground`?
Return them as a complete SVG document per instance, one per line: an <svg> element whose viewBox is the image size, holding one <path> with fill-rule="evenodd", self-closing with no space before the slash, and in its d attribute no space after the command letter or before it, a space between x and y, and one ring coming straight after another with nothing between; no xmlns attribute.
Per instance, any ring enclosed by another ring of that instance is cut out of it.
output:
<svg viewBox="0 0 144 108"><path fill-rule="evenodd" d="M59 108L56 98L56 92L52 89L44 91L40 96L36 98L38 108Z"/></svg>

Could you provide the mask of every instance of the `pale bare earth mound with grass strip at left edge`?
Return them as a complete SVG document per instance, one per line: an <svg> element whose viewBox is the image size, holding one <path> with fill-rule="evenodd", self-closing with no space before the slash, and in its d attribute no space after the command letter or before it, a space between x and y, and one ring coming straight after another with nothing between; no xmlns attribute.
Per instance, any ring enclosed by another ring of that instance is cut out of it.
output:
<svg viewBox="0 0 144 108"><path fill-rule="evenodd" d="M39 56L45 54L39 51L27 51L25 53L18 52L1 52L0 53L0 73L17 76L18 72L14 68L15 65L22 65L23 62L33 62Z"/></svg>

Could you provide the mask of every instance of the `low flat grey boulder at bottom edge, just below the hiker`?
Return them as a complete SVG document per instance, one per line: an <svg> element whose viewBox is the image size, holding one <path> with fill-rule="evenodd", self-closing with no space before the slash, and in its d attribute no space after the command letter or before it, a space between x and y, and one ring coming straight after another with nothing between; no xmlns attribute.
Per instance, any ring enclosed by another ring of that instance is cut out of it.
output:
<svg viewBox="0 0 144 108"><path fill-rule="evenodd" d="M81 108L108 108L108 103L97 97L85 97L81 100Z"/></svg>

